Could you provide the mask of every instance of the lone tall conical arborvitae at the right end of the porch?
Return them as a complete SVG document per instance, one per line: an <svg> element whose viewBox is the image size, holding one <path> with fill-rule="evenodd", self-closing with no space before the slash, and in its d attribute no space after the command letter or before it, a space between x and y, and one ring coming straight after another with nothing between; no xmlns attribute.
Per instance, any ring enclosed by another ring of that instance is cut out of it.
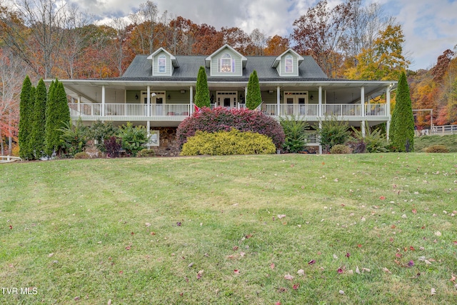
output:
<svg viewBox="0 0 457 305"><path fill-rule="evenodd" d="M414 116L406 74L398 80L396 104L389 132L392 146L398 151L414 151Z"/></svg>

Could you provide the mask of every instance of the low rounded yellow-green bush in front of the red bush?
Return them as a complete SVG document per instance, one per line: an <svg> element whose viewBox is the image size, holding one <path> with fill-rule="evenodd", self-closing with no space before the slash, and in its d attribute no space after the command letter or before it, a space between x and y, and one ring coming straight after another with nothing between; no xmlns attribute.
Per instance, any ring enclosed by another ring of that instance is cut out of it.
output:
<svg viewBox="0 0 457 305"><path fill-rule="evenodd" d="M276 146L268 136L251 131L197 131L183 145L181 156L229 155L229 154L274 154Z"/></svg>

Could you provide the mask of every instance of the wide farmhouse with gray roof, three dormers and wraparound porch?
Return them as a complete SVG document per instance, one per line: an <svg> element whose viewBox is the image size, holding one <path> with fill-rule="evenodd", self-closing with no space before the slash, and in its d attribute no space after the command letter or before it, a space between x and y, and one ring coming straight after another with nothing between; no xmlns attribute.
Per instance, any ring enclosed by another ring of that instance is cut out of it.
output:
<svg viewBox="0 0 457 305"><path fill-rule="evenodd" d="M71 97L72 120L147 126L151 146L166 149L176 127L194 111L200 66L206 68L213 107L244 107L248 79L256 70L263 100L259 109L275 119L296 116L313 125L333 116L362 128L383 122L388 128L391 120L396 81L328 79L311 56L292 49L280 56L243 56L226 44L210 56L178 56L160 48L137 55L118 78L60 81ZM386 104L376 102L381 95Z"/></svg>

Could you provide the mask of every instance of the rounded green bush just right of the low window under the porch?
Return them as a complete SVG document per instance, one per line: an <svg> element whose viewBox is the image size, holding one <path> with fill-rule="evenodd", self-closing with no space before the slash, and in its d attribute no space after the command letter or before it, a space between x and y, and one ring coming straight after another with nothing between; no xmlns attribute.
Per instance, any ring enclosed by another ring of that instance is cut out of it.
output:
<svg viewBox="0 0 457 305"><path fill-rule="evenodd" d="M317 129L320 143L325 151L330 151L335 145L345 144L350 136L348 122L338 121L335 117L321 121L321 127Z"/></svg>

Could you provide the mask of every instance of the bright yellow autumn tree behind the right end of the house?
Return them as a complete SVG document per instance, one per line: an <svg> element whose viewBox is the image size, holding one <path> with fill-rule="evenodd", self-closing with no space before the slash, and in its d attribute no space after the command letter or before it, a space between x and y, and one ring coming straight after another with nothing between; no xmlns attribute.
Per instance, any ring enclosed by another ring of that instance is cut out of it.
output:
<svg viewBox="0 0 457 305"><path fill-rule="evenodd" d="M379 33L373 47L356 56L357 66L348 69L348 79L392 80L406 71L410 61L403 54L403 31L400 25L387 26Z"/></svg>

